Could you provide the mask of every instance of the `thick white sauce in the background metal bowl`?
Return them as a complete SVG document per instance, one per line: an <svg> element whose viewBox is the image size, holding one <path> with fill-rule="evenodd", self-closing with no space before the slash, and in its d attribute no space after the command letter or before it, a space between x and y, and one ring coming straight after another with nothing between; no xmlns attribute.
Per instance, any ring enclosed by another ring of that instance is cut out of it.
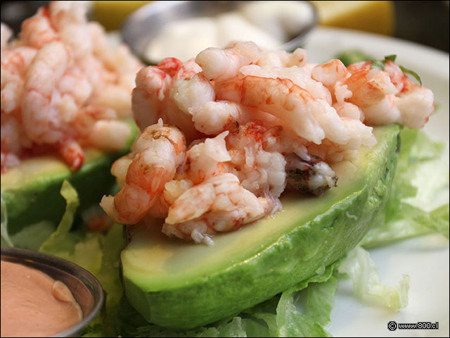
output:
<svg viewBox="0 0 450 338"><path fill-rule="evenodd" d="M162 27L144 54L149 60L171 56L185 62L208 47L223 48L236 40L274 50L311 22L307 6L299 1L250 1L239 11L217 17L173 21Z"/></svg>

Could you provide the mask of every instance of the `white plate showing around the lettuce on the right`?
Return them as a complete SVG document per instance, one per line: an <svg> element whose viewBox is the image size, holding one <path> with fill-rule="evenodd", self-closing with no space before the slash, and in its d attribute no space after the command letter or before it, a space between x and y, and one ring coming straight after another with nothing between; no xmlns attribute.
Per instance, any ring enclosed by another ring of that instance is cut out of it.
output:
<svg viewBox="0 0 450 338"><path fill-rule="evenodd" d="M325 62L347 49L359 49L375 58L397 54L397 63L420 75L432 89L438 110L425 132L446 143L449 168L449 54L420 44L350 30L318 28L304 48L311 62ZM446 193L446 201L448 201ZM353 296L352 282L341 281L328 331L335 337L449 337L449 241L432 234L370 250L379 266L380 280L397 284L411 277L409 306L401 311L368 306ZM439 322L439 330L387 330L387 323Z"/></svg>

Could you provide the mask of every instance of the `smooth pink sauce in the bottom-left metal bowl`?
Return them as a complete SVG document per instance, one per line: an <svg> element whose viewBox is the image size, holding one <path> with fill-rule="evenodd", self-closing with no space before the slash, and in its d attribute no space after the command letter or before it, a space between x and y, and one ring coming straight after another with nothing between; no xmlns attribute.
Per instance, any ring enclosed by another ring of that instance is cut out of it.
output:
<svg viewBox="0 0 450 338"><path fill-rule="evenodd" d="M65 284L39 270L1 261L1 337L49 337L82 318Z"/></svg>

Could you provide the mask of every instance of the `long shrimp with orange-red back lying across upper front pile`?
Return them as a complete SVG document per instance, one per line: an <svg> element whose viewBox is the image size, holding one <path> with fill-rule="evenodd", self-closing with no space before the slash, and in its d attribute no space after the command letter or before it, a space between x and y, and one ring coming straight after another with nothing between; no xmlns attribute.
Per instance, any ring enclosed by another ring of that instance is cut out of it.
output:
<svg viewBox="0 0 450 338"><path fill-rule="evenodd" d="M360 131L354 133L356 125L349 129L326 101L314 99L307 90L288 79L248 75L221 89L217 97L275 115L286 129L316 144L321 144L326 138L345 146L361 133L371 134L371 129L360 121L357 124ZM363 140L363 144L373 146L374 141L369 137Z"/></svg>

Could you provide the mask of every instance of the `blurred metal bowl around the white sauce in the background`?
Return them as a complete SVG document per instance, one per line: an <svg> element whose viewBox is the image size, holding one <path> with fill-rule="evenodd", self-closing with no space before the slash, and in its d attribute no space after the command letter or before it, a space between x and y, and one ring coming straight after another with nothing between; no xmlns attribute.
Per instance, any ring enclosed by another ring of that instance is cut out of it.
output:
<svg viewBox="0 0 450 338"><path fill-rule="evenodd" d="M290 40L279 46L278 49L293 51L302 46L304 36L317 23L317 12L311 3L308 1L295 2L307 4L305 8L309 8L311 11L311 15L309 15L311 21L304 23L302 30L295 32ZM129 15L122 25L122 39L144 63L154 65L160 60L148 60L144 51L148 43L158 35L166 23L186 18L214 17L236 11L248 3L249 1L154 1Z"/></svg>

